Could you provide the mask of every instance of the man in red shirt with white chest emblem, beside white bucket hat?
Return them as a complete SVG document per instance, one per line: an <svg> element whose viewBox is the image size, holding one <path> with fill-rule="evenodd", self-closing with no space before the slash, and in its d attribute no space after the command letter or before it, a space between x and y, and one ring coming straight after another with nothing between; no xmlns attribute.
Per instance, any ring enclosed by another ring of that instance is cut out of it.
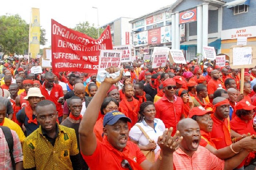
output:
<svg viewBox="0 0 256 170"><path fill-rule="evenodd" d="M63 116L63 109L61 107L61 100L64 100L64 94L62 87L54 83L54 74L52 72L47 72L45 74L45 82L40 87L42 95L45 99L54 102L58 112L58 121L61 123Z"/></svg>

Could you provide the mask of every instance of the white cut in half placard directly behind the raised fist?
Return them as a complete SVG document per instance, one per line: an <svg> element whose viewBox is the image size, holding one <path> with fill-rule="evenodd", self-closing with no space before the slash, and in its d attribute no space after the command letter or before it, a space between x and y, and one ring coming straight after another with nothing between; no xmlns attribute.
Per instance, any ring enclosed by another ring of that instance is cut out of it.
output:
<svg viewBox="0 0 256 170"><path fill-rule="evenodd" d="M110 66L120 68L122 51L117 50L101 50L99 55L98 70L102 71Z"/></svg>

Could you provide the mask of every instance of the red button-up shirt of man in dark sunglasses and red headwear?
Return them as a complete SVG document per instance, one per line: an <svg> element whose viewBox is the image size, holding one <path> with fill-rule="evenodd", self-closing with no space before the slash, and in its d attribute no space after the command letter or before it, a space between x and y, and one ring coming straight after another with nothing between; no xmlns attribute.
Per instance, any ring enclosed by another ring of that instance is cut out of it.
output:
<svg viewBox="0 0 256 170"><path fill-rule="evenodd" d="M155 103L156 118L163 121L166 128L173 127L172 136L176 133L177 123L180 121L180 117L184 114L184 103L180 97L175 96L174 102L169 102L166 95L163 95Z"/></svg>

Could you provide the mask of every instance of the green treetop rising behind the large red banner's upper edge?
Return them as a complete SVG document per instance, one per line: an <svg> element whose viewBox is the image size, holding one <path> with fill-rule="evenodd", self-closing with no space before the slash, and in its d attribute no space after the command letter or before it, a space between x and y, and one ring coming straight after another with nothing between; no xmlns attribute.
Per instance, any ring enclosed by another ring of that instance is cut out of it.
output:
<svg viewBox="0 0 256 170"><path fill-rule="evenodd" d="M83 34L86 34L93 39L98 39L98 28L94 27L94 24L90 26L90 23L88 21L86 21L85 23L83 22L76 24L76 27L73 29ZM99 28L99 35L102 34L103 31L103 28Z"/></svg>

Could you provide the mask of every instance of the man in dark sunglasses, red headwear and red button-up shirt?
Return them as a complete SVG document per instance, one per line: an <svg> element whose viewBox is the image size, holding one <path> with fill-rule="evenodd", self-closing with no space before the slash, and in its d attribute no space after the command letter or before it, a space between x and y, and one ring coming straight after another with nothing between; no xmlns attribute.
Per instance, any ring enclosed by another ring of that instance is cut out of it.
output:
<svg viewBox="0 0 256 170"><path fill-rule="evenodd" d="M163 121L166 128L173 127L172 135L176 132L177 123L183 118L184 103L180 97L175 96L176 82L169 78L163 81L164 95L155 103L156 118Z"/></svg>

